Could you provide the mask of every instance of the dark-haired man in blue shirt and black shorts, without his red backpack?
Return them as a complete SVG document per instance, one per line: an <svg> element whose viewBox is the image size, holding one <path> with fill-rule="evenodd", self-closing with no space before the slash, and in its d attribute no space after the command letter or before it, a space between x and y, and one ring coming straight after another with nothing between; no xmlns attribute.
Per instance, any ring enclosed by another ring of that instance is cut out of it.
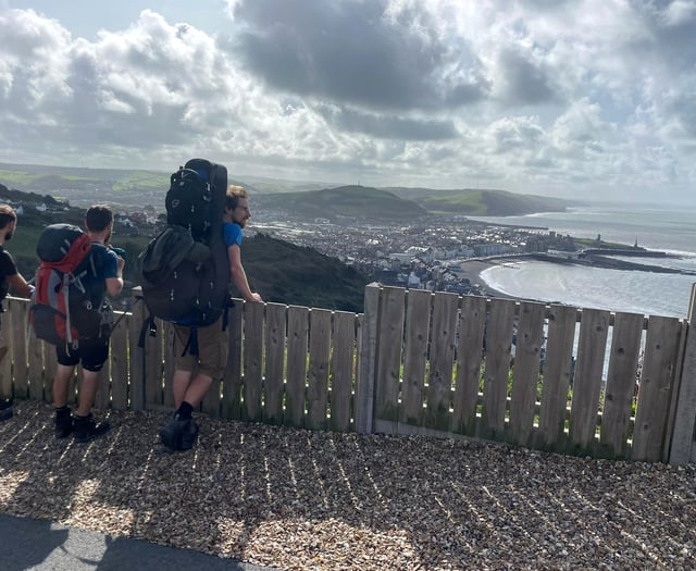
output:
<svg viewBox="0 0 696 571"><path fill-rule="evenodd" d="M113 213L108 206L90 207L85 215L85 228L91 239L90 263L95 274L83 278L83 285L90 291L92 307L104 302L105 294L115 297L123 289L123 266L125 261L110 249L113 231ZM58 368L53 377L53 399L55 406L55 437L65 438L73 434L78 443L86 443L104 434L108 422L95 422L91 408L95 404L99 383L99 372L109 357L110 327L100 327L96 337L80 337L77 344L55 345ZM77 409L71 413L67 405L70 382L75 365L82 362L83 378L79 387Z"/></svg>

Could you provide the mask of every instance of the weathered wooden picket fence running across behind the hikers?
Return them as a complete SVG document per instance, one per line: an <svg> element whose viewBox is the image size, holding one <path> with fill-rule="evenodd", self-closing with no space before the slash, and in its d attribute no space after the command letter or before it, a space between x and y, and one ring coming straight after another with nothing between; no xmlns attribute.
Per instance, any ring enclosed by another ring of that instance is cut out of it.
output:
<svg viewBox="0 0 696 571"><path fill-rule="evenodd" d="M696 461L694 295L687 319L371 284L363 314L253 305L229 313L229 361L201 405L310 430L462 436L563 454ZM2 315L0 396L52 401L53 347ZM173 407L172 331L112 335L97 407Z"/></svg>

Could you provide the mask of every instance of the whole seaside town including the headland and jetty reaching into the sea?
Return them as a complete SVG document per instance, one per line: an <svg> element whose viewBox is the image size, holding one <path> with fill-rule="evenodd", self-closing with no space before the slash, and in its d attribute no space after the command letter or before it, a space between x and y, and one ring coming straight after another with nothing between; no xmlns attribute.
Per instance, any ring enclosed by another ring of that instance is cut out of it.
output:
<svg viewBox="0 0 696 571"><path fill-rule="evenodd" d="M287 211L257 209L247 228L311 247L355 266L383 285L490 295L480 272L495 263L542 260L595 268L689 273L635 259L666 258L638 245L609 244L600 235L577 238L540 226L490 224L463 215L430 215L407 223L303 220ZM499 294L499 293L495 293Z"/></svg>

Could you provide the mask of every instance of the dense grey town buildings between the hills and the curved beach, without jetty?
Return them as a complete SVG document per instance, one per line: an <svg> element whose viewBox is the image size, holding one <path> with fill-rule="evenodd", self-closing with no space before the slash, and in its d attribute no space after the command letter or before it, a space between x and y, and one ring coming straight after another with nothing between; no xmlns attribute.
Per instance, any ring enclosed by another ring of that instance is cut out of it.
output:
<svg viewBox="0 0 696 571"><path fill-rule="evenodd" d="M288 221L285 213L254 211L248 232L314 248L384 285L456 294L488 294L467 271L472 262L533 253L572 257L579 251L572 237L547 228L490 225L461 215L341 224L327 219Z"/></svg>

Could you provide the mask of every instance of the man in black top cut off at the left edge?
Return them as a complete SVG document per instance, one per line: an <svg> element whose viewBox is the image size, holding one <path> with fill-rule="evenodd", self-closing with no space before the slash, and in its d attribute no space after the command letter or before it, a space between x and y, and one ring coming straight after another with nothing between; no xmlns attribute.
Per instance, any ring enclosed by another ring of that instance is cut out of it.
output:
<svg viewBox="0 0 696 571"><path fill-rule="evenodd" d="M9 204L0 204L0 362L8 353L8 344L2 331L2 301L10 288L17 291L22 297L32 296L32 286L17 271L12 255L4 249L4 243L12 239L12 235L17 227L17 213ZM0 421L12 418L12 399L0 399Z"/></svg>

